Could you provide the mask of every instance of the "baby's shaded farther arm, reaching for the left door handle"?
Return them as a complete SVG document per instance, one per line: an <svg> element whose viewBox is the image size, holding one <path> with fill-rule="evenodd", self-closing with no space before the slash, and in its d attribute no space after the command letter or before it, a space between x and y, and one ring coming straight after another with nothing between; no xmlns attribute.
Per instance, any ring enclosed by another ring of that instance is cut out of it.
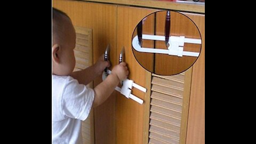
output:
<svg viewBox="0 0 256 144"><path fill-rule="evenodd" d="M110 66L110 63L108 61L103 60L103 55L101 55L101 57L99 58L97 63L95 63L95 65L83 70L75 71L70 76L77 79L79 84L87 85L91 81L93 81L94 78L101 75L106 67Z"/></svg>

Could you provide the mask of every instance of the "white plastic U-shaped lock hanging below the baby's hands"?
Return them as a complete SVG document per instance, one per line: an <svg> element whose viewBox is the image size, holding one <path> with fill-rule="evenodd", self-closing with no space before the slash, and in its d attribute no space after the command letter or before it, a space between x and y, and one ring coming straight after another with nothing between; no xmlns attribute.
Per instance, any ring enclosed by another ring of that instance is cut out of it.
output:
<svg viewBox="0 0 256 144"><path fill-rule="evenodd" d="M111 70L108 70L108 74L111 73ZM106 79L106 75L103 73L102 74L102 80ZM123 94L126 98L128 99L133 99L134 101L137 101L138 103L140 103L142 105L143 100L141 100L140 98L136 97L135 95L132 94L132 88L135 87L138 90L142 91L142 92L147 92L147 89L145 87L142 87L138 84L135 84L134 81L130 80L130 79L125 79L123 81L123 86L120 87L116 87L115 90L120 92L121 94Z"/></svg>

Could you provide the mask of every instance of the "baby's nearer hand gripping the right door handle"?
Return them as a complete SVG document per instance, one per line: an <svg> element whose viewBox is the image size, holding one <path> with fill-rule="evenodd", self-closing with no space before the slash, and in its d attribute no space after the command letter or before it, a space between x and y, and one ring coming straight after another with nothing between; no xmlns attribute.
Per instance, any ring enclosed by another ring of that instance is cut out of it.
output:
<svg viewBox="0 0 256 144"><path fill-rule="evenodd" d="M125 62L121 62L119 65L116 65L112 71L111 74L114 74L118 77L119 81L123 81L127 78L129 74L129 70L126 66Z"/></svg>

